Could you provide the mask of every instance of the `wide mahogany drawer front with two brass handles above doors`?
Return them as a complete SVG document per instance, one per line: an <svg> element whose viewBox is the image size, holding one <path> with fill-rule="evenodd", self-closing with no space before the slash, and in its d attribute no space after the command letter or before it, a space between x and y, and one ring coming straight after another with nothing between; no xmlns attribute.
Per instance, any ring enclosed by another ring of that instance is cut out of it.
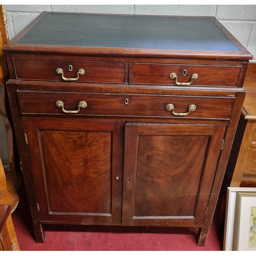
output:
<svg viewBox="0 0 256 256"><path fill-rule="evenodd" d="M87 94L29 90L18 91L18 98L20 110L24 114L66 114L63 110L77 111L79 102L85 101L86 108L81 108L76 115L216 119L229 119L234 102L234 98L225 97ZM56 106L59 100L63 102L63 110ZM174 110L166 110L168 104L173 104ZM191 104L196 105L195 111L188 111ZM177 116L174 113L186 115Z"/></svg>

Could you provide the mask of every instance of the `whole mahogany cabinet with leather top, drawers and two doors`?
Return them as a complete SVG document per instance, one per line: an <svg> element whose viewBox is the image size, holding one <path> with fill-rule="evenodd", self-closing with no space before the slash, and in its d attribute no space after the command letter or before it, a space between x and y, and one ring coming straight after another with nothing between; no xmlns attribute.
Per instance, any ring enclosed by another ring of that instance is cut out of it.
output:
<svg viewBox="0 0 256 256"><path fill-rule="evenodd" d="M44 12L3 50L37 242L161 225L205 245L252 58L215 18Z"/></svg>

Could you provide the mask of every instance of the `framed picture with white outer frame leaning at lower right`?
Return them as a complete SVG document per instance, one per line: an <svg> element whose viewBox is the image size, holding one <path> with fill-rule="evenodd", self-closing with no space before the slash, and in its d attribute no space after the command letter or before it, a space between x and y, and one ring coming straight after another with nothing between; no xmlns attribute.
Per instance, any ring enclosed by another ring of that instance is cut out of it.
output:
<svg viewBox="0 0 256 256"><path fill-rule="evenodd" d="M256 188L227 188L223 250L256 251Z"/></svg>

